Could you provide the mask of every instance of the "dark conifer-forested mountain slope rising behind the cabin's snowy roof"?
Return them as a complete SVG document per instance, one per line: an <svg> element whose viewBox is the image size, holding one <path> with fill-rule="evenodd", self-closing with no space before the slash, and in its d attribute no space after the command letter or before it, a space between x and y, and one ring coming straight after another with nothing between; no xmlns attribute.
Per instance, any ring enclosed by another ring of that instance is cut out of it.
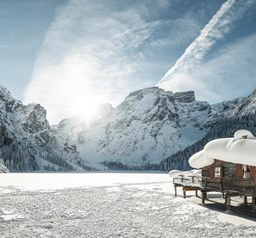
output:
<svg viewBox="0 0 256 238"><path fill-rule="evenodd" d="M240 129L256 134L256 89L247 97L218 103L214 107L221 112L218 122L202 139L162 160L161 170L191 169L188 158L202 150L205 144L213 139L233 137L234 133Z"/></svg>

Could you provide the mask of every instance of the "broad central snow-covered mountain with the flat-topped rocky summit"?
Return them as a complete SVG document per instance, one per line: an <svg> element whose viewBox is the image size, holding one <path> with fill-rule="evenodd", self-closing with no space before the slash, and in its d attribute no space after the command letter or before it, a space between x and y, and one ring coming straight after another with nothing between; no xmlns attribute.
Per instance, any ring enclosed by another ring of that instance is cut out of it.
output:
<svg viewBox="0 0 256 238"><path fill-rule="evenodd" d="M107 113L92 124L77 118L61 121L54 126L55 137L76 144L91 167L143 168L201 139L226 104L196 101L193 91L145 88L130 93L115 109L102 105Z"/></svg>

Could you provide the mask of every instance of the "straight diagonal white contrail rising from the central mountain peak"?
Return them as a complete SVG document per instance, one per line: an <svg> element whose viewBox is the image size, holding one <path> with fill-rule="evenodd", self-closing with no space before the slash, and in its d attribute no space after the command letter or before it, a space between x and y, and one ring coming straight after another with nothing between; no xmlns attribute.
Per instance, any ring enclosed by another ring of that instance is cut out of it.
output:
<svg viewBox="0 0 256 238"><path fill-rule="evenodd" d="M229 33L231 23L241 18L253 3L255 3L255 0L228 0L223 3L220 10L216 12L210 22L203 27L200 35L186 48L184 54L167 71L156 86L171 90L168 84L171 82L173 75L177 72L186 73L195 69L216 41L223 39Z"/></svg>

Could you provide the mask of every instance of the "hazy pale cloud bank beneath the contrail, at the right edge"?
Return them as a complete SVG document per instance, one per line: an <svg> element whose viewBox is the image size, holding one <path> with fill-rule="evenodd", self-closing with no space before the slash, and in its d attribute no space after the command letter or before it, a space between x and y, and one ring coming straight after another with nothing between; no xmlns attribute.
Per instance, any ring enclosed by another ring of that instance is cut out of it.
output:
<svg viewBox="0 0 256 238"><path fill-rule="evenodd" d="M249 35L212 54L188 73L175 73L174 92L195 90L197 100L211 103L245 96L256 87L256 34Z"/></svg>

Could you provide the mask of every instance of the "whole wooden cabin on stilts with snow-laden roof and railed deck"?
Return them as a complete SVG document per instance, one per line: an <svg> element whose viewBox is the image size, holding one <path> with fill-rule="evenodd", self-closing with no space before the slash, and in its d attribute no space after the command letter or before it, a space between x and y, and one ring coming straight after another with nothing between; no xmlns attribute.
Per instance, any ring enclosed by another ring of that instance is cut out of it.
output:
<svg viewBox="0 0 256 238"><path fill-rule="evenodd" d="M247 197L252 197L252 208L256 211L256 137L250 131L240 130L232 138L214 139L188 162L191 167L201 169L201 177L173 178L175 196L177 186L183 187L184 197L186 190L201 190L202 203L207 192L221 192L227 210L231 209L231 196L244 197L244 203Z"/></svg>

